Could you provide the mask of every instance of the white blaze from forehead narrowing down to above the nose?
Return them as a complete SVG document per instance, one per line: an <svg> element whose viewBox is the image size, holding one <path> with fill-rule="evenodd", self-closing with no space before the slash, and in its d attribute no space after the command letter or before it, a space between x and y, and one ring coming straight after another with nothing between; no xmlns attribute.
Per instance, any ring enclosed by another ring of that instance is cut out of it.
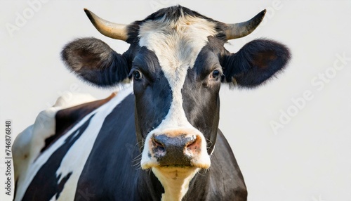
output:
<svg viewBox="0 0 351 201"><path fill-rule="evenodd" d="M182 15L177 20L168 20L165 15L140 25L139 45L154 51L172 89L171 108L162 124L169 122L173 127L190 126L183 110L181 90L187 70L194 67L208 36L216 35L215 27L215 22L190 15Z"/></svg>

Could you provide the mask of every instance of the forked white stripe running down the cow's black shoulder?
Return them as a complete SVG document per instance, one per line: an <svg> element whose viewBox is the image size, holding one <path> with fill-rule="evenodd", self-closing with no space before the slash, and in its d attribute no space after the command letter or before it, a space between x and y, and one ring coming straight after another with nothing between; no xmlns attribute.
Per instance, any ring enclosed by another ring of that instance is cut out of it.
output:
<svg viewBox="0 0 351 201"><path fill-rule="evenodd" d="M112 112L112 110L131 93L133 93L133 88L131 87L125 91L119 92L117 96L112 98L108 103L105 103L100 108L81 119L81 121L70 131L55 141L55 143L45 150L44 153L39 155L37 160L29 163L26 171L20 176L22 177L22 180L21 182L18 182L15 200L22 200L22 197L25 195L25 191L32 182L32 179L34 179L34 176L39 169L48 161L49 157L51 157L55 150L65 143L69 136L74 135L73 131L81 127L92 115L94 115L84 133L81 134L80 138L71 146L71 148L69 148L69 151L62 159L60 167L56 171L56 176L61 174L58 182L60 182L64 176L67 176L69 172L72 172L72 175L69 177L69 180L65 183L65 186L60 193L60 197L58 197L58 200L72 200L77 189L79 176L84 168L88 155L91 153L93 143L98 136L105 117L107 117L107 115L109 115L110 112ZM54 195L51 200L56 200L55 196L56 195Z"/></svg>

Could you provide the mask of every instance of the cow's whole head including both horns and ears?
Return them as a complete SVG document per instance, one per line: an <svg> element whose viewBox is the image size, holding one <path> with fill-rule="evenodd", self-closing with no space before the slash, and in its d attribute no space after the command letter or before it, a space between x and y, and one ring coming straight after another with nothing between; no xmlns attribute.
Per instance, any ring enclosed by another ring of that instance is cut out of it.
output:
<svg viewBox="0 0 351 201"><path fill-rule="evenodd" d="M130 25L102 20L88 10L86 14L102 34L131 46L119 54L98 39L77 39L65 46L62 58L79 77L98 86L133 80L141 167L152 169L164 186L172 172L192 178L210 167L220 84L258 86L290 57L284 45L265 39L251 41L237 53L224 48L227 40L255 30L265 11L237 24L182 6L161 9Z"/></svg>

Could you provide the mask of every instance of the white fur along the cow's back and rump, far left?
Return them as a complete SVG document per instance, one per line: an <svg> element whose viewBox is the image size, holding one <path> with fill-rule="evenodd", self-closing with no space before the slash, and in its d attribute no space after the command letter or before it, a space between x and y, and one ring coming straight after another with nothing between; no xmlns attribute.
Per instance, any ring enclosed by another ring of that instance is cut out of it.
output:
<svg viewBox="0 0 351 201"><path fill-rule="evenodd" d="M18 134L12 147L15 181L41 153L46 139L55 135L56 115L67 108L75 108L91 101L96 101L96 98L87 93L72 93L70 98L60 96L52 107L39 112L34 124Z"/></svg>

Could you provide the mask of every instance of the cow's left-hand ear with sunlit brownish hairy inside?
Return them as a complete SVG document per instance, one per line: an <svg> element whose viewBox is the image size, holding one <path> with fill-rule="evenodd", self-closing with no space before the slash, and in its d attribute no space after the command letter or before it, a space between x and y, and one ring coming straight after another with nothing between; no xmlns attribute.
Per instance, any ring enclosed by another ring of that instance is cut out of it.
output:
<svg viewBox="0 0 351 201"><path fill-rule="evenodd" d="M115 86L128 79L126 57L99 39L76 39L62 49L61 58L69 70L96 86Z"/></svg>

